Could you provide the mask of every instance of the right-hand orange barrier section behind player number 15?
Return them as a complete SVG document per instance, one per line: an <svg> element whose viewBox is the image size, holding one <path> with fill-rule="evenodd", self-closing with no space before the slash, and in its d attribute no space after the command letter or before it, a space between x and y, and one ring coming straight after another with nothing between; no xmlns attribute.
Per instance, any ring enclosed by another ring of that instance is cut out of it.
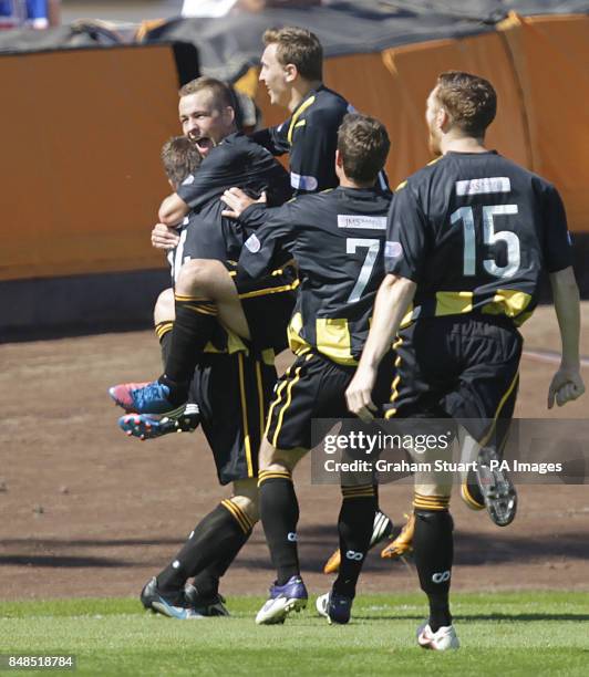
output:
<svg viewBox="0 0 589 677"><path fill-rule="evenodd" d="M394 187L430 159L425 98L445 70L477 73L493 82L498 113L489 147L541 174L560 190L570 230L589 231L589 18L581 14L520 19L495 33L391 48L380 54L328 59L326 84L388 127L386 170ZM257 103L268 124L286 115Z"/></svg>

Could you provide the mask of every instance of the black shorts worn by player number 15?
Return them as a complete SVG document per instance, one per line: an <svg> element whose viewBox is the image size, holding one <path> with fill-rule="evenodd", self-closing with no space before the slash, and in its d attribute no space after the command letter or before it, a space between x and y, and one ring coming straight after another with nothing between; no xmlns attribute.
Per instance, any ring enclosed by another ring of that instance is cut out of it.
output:
<svg viewBox="0 0 589 677"><path fill-rule="evenodd" d="M507 317L418 320L395 344L385 417L452 417L482 446L500 445L514 414L521 344Z"/></svg>

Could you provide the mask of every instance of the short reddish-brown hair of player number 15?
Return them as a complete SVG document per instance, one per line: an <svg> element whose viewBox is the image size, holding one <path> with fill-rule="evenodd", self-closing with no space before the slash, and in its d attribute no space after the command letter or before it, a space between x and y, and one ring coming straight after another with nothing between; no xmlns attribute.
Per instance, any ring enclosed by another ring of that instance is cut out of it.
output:
<svg viewBox="0 0 589 677"><path fill-rule="evenodd" d="M488 80L446 71L437 77L437 101L446 108L453 125L471 136L483 137L495 119L497 94Z"/></svg>

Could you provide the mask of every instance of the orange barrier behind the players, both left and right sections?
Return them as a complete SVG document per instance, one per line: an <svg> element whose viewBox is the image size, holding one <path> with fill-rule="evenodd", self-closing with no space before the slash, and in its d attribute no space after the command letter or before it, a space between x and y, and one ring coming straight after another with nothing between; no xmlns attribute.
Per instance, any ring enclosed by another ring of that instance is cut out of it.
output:
<svg viewBox="0 0 589 677"><path fill-rule="evenodd" d="M499 111L488 143L561 191L589 231L589 18L512 15L459 40L328 59L326 83L389 127L392 186L428 162L425 97L437 73L488 77ZM162 143L179 133L167 45L0 56L3 138L0 281L163 265L149 230L167 192ZM255 72L242 79L255 88ZM260 91L261 90L261 91ZM257 101L267 124L285 111Z"/></svg>

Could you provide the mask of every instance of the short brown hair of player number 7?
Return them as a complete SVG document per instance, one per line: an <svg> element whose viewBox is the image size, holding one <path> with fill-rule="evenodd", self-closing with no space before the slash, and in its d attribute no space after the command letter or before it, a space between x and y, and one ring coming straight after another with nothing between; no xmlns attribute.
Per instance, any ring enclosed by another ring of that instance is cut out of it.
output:
<svg viewBox="0 0 589 677"><path fill-rule="evenodd" d="M390 147L386 127L381 122L359 113L345 115L338 131L338 150L348 178L359 184L374 183Z"/></svg>

